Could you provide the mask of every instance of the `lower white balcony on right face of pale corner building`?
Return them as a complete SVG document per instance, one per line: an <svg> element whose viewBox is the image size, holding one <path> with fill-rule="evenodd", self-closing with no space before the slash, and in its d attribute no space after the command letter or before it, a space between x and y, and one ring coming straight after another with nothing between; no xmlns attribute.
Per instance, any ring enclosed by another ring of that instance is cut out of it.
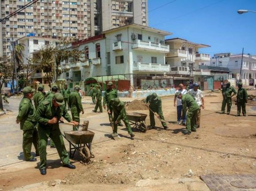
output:
<svg viewBox="0 0 256 191"><path fill-rule="evenodd" d="M170 71L170 65L134 62L133 63L133 71L169 72Z"/></svg>

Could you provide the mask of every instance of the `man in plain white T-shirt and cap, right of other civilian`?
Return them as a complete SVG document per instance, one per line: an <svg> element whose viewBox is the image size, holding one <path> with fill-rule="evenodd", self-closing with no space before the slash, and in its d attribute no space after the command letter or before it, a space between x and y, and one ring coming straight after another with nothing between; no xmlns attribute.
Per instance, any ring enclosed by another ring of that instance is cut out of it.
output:
<svg viewBox="0 0 256 191"><path fill-rule="evenodd" d="M198 106L200 106L200 109L197 112L196 116L196 128L200 127L200 116L201 116L201 108L204 109L204 98L203 98L203 92L198 89L199 84L194 83L193 89L190 89L188 93L192 95L192 97L195 99Z"/></svg>

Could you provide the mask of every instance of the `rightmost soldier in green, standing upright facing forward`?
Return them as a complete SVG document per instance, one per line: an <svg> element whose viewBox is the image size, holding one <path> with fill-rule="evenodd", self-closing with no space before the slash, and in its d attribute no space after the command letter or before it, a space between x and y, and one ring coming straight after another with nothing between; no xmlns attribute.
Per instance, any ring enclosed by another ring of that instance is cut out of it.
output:
<svg viewBox="0 0 256 191"><path fill-rule="evenodd" d="M238 90L237 90L237 115L236 116L240 116L241 107L242 107L243 115L246 116L245 103L247 103L247 99L248 99L248 96L247 96L246 89L243 88L243 83L239 82Z"/></svg>

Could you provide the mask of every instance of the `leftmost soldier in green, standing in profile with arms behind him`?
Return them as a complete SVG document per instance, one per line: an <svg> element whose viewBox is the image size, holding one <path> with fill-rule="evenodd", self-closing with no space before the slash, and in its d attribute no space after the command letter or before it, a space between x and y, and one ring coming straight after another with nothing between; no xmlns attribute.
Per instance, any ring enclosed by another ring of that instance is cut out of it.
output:
<svg viewBox="0 0 256 191"><path fill-rule="evenodd" d="M23 154L25 161L35 162L37 161L31 155L32 143L36 150L36 156L39 156L39 142L38 142L38 131L36 128L37 122L34 120L34 106L31 98L35 90L30 86L23 88L23 99L19 103L19 114L16 119L16 123L20 123L20 129L23 130Z"/></svg>

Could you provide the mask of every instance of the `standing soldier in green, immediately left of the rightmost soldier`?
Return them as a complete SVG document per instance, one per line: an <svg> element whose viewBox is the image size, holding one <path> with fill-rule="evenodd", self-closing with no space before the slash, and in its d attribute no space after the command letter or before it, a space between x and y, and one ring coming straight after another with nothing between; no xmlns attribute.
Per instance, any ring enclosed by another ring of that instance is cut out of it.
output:
<svg viewBox="0 0 256 191"><path fill-rule="evenodd" d="M233 92L233 95L232 95ZM227 114L230 114L231 106L232 106L232 97L236 95L236 90L230 86L230 82L226 83L226 87L222 89L222 107L221 107L221 114L225 113L225 107L227 105Z"/></svg>

